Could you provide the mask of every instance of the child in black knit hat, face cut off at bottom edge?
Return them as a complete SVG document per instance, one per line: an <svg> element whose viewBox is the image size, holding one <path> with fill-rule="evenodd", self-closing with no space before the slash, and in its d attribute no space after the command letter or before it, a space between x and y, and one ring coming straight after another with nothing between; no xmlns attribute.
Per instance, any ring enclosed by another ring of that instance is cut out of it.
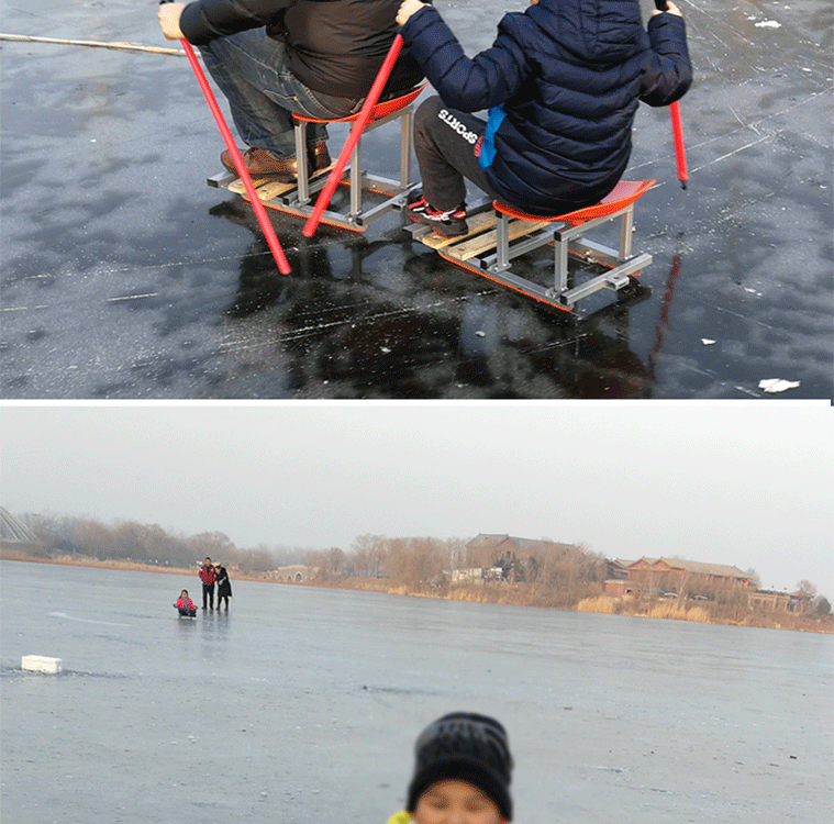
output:
<svg viewBox="0 0 834 824"><path fill-rule="evenodd" d="M389 824L503 824L512 820L512 756L503 726L455 712L427 726L414 745L407 813Z"/></svg>

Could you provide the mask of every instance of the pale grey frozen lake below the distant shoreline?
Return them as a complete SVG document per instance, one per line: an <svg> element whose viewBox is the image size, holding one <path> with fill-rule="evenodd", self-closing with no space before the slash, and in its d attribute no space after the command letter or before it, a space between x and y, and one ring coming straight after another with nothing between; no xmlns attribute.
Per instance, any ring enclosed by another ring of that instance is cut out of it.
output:
<svg viewBox="0 0 834 824"><path fill-rule="evenodd" d="M518 822L831 821L831 636L247 581L189 621L196 575L0 574L9 824L383 824L453 710L508 727Z"/></svg>

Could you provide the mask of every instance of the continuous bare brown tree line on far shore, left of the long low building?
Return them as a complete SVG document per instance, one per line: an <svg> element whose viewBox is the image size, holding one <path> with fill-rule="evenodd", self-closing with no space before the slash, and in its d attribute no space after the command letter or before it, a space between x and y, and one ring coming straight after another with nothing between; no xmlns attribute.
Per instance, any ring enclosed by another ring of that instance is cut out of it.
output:
<svg viewBox="0 0 834 824"><path fill-rule="evenodd" d="M359 535L347 550L301 547L242 548L222 532L171 534L158 524L121 521L103 524L92 517L23 517L43 542L31 550L46 557L71 555L97 560L124 560L166 567L188 567L204 557L222 560L244 572L269 572L281 566L304 565L324 582L345 578L386 578L411 590L451 583L453 570L490 570L478 581L512 581L534 600L552 605L576 603L596 594L605 579L605 561L586 547L554 544L536 557L496 558L494 549L467 546L460 537L387 537ZM497 566L498 565L498 566ZM558 591L559 595L554 593Z"/></svg>

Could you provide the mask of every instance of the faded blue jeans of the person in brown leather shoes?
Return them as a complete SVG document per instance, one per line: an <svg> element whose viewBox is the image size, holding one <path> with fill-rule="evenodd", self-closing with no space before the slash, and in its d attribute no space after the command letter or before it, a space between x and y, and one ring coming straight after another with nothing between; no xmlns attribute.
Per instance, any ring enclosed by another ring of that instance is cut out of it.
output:
<svg viewBox="0 0 834 824"><path fill-rule="evenodd" d="M362 99L308 89L285 65L283 43L251 29L200 46L205 68L229 100L232 119L247 146L276 157L296 156L290 113L335 120L355 113ZM327 140L323 123L309 123L308 144Z"/></svg>

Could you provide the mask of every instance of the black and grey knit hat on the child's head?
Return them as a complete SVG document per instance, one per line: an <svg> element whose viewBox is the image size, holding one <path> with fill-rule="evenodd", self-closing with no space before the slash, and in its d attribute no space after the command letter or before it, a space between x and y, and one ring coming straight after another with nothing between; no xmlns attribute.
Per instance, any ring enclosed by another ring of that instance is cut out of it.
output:
<svg viewBox="0 0 834 824"><path fill-rule="evenodd" d="M429 787L457 779L477 787L496 803L502 819L512 820L513 761L507 731L498 721L467 712L444 715L420 734L414 754L407 806L410 813Z"/></svg>

